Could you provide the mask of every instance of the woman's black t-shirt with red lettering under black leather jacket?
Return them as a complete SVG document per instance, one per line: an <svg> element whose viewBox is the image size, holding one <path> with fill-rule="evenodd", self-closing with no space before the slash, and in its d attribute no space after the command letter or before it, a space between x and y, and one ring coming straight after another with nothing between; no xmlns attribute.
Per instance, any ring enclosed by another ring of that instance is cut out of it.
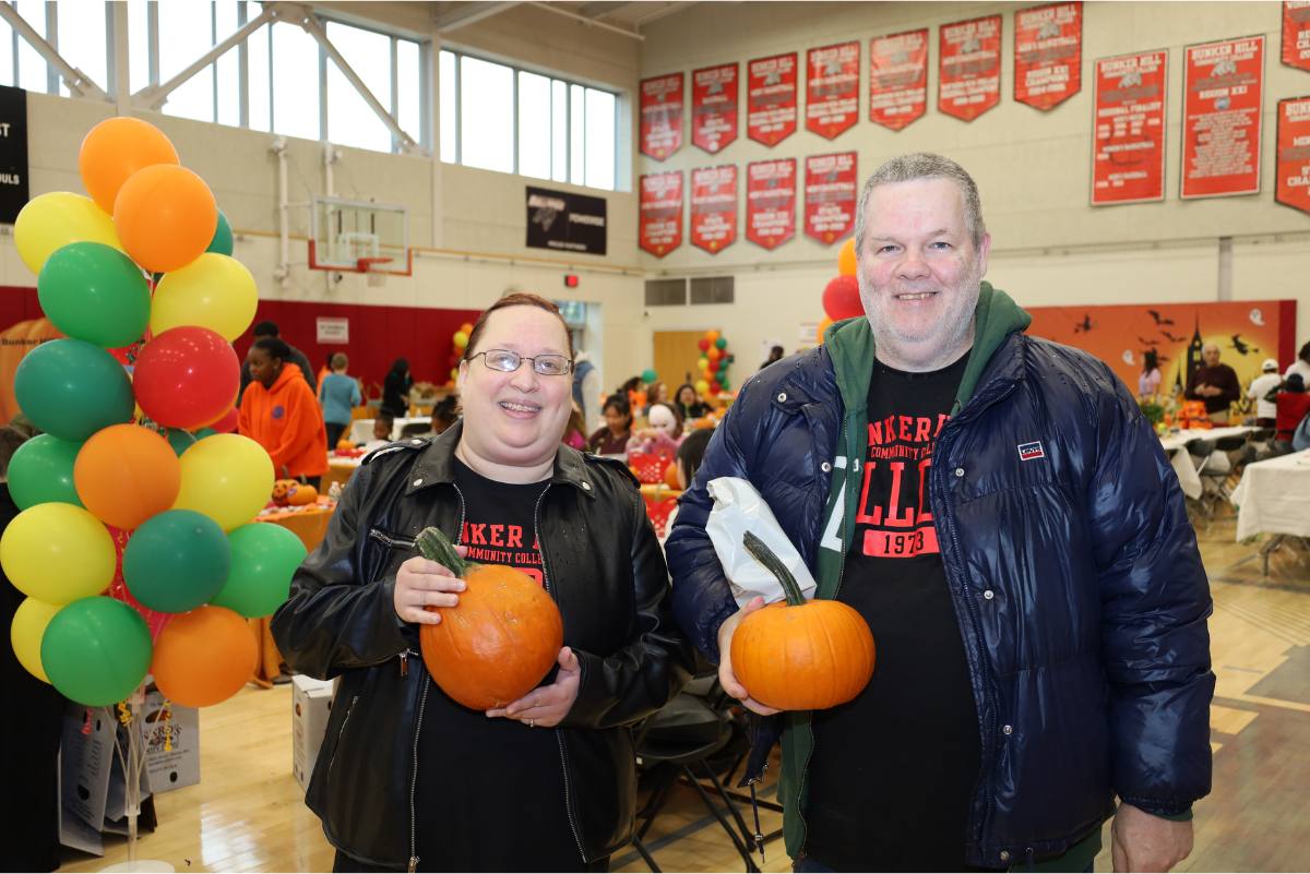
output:
<svg viewBox="0 0 1310 874"><path fill-rule="evenodd" d="M458 542L469 547L468 560L507 564L540 582L534 519L546 483L496 483L458 459L453 464L464 497ZM413 738L377 738L377 743L407 748ZM489 720L452 701L436 684L427 690L419 729L414 816L423 871L578 871L583 866L569 823L554 729Z"/></svg>

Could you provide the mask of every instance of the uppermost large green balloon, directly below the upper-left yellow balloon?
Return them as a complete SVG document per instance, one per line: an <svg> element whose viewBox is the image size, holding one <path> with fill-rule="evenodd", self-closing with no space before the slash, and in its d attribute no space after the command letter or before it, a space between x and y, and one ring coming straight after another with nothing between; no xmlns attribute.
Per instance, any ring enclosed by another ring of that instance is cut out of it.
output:
<svg viewBox="0 0 1310 874"><path fill-rule="evenodd" d="M110 349L140 340L151 321L140 267L105 243L56 249L37 277L37 297L56 328Z"/></svg>

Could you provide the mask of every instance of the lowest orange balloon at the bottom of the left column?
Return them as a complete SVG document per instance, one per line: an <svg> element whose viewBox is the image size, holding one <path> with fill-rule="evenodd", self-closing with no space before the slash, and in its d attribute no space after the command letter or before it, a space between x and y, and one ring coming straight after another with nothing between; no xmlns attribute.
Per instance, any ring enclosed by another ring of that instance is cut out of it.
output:
<svg viewBox="0 0 1310 874"><path fill-rule="evenodd" d="M227 607L173 616L155 641L151 673L160 691L183 707L225 701L245 686L259 653L254 632Z"/></svg>

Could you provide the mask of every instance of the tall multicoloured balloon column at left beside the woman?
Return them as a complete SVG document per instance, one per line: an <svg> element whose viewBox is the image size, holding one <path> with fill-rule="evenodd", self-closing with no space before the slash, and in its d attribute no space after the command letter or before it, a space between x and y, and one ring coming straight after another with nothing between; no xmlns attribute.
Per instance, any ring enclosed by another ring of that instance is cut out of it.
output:
<svg viewBox="0 0 1310 874"><path fill-rule="evenodd" d="M28 595L10 642L86 707L132 696L147 673L178 704L216 704L255 666L244 618L286 601L305 555L287 529L252 523L272 489L267 453L208 428L233 419L231 341L254 318L254 277L208 186L156 127L97 124L79 166L90 198L43 194L14 226L67 336L14 376L45 433L9 463L22 512L0 564Z"/></svg>

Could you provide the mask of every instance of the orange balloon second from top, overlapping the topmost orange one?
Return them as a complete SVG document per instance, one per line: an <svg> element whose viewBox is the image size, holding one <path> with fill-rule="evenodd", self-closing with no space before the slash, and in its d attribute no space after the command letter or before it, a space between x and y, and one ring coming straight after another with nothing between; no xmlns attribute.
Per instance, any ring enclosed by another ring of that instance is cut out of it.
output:
<svg viewBox="0 0 1310 874"><path fill-rule="evenodd" d="M114 229L123 250L153 273L199 258L217 226L219 205L210 186L172 164L138 170L114 200Z"/></svg>

